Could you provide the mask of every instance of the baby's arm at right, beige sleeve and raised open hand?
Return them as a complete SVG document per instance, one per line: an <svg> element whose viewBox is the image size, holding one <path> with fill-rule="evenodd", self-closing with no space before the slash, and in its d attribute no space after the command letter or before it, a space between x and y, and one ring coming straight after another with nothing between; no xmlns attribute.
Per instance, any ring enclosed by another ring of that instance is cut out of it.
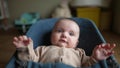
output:
<svg viewBox="0 0 120 68"><path fill-rule="evenodd" d="M100 44L96 46L93 50L93 53L90 57L83 54L83 61L82 66L91 66L97 63L100 60L107 59L110 55L114 53L113 48L115 47L115 44L110 45L107 44Z"/></svg>

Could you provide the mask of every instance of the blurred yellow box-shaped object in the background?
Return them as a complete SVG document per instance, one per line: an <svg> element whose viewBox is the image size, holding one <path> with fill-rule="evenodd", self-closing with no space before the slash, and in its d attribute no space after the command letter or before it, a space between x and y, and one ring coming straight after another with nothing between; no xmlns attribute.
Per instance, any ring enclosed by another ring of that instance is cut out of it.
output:
<svg viewBox="0 0 120 68"><path fill-rule="evenodd" d="M99 27L99 23L100 23L100 8L97 7L79 7L77 8L77 17L82 17L82 18L88 18L91 19L95 22L95 24L97 25L97 27Z"/></svg>

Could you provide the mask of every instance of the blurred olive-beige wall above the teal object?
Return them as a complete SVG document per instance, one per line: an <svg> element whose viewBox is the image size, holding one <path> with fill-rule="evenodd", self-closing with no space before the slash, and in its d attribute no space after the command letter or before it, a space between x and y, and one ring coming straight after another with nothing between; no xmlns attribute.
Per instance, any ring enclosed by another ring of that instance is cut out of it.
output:
<svg viewBox="0 0 120 68"><path fill-rule="evenodd" d="M50 15L61 0L8 0L10 20L18 18L24 12L39 12L41 18Z"/></svg>

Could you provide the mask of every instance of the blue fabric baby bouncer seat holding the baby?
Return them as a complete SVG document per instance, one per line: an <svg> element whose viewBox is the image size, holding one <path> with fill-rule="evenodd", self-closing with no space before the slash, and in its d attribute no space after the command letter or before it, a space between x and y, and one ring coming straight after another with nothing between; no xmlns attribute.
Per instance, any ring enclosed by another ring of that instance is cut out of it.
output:
<svg viewBox="0 0 120 68"><path fill-rule="evenodd" d="M50 44L50 34L54 24L59 18L42 19L31 26L26 35L31 37L34 42L34 48L40 45ZM75 20L80 26L79 48L83 48L88 56L91 55L93 48L101 43L106 43L100 31L93 21L85 18L71 18ZM6 68L15 68L15 55L11 58ZM29 61L27 68L74 68L62 63L35 63ZM90 66L90 68L120 68L114 55L107 60L99 61L97 64Z"/></svg>

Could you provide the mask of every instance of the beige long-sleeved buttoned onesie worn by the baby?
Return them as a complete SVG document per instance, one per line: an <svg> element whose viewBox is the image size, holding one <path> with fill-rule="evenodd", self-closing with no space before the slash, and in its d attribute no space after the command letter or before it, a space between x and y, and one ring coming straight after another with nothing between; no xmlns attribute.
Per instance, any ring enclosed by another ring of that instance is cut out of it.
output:
<svg viewBox="0 0 120 68"><path fill-rule="evenodd" d="M38 46L36 49L26 46L19 48L18 58L24 61L33 61L41 63L61 62L74 67L91 66L97 61L94 58L86 56L81 48L65 48L55 45Z"/></svg>

